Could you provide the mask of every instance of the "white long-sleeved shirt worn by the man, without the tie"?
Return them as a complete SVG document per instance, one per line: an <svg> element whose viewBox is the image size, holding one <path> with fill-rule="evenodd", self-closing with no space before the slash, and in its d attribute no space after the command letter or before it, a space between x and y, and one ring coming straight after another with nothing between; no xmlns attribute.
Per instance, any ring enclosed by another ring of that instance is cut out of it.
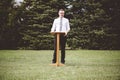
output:
<svg viewBox="0 0 120 80"><path fill-rule="evenodd" d="M69 20L67 18L62 18L62 30L60 31L60 17L56 18L53 22L51 32L65 32L66 34L70 30Z"/></svg>

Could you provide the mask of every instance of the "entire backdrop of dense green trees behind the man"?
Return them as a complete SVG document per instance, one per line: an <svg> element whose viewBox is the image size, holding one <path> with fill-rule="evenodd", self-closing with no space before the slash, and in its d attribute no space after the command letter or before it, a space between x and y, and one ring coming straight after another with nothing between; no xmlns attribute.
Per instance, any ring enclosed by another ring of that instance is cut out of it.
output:
<svg viewBox="0 0 120 80"><path fill-rule="evenodd" d="M50 29L60 8L71 49L120 49L120 0L0 0L0 49L53 49Z"/></svg>

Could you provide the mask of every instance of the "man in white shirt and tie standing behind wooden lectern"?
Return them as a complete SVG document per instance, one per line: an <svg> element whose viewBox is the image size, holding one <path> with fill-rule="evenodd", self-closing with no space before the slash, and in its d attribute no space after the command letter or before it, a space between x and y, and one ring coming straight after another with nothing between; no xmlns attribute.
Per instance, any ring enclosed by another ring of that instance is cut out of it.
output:
<svg viewBox="0 0 120 80"><path fill-rule="evenodd" d="M65 11L60 9L58 12L59 17L56 18L53 22L51 32L65 32L65 34L60 34L60 47L61 47L61 63L65 63L65 45L66 45L66 36L70 31L69 20L64 17ZM56 63L56 35L54 40L54 54L52 63Z"/></svg>

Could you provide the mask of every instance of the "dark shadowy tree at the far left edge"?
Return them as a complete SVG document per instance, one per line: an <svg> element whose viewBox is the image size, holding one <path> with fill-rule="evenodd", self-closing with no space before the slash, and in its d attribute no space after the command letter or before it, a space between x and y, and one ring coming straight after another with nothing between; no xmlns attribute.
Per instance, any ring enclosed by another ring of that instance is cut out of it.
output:
<svg viewBox="0 0 120 80"><path fill-rule="evenodd" d="M13 0L0 1L0 49L13 49L16 47L14 29L9 24L12 6Z"/></svg>

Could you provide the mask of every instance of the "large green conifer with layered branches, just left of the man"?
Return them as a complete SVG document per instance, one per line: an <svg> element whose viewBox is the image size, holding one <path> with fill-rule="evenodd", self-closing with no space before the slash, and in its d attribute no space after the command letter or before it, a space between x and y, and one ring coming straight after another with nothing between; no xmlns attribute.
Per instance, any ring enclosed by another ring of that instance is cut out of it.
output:
<svg viewBox="0 0 120 80"><path fill-rule="evenodd" d="M53 49L50 29L58 9L65 8L64 1L25 0L24 5L21 46L26 49Z"/></svg>

